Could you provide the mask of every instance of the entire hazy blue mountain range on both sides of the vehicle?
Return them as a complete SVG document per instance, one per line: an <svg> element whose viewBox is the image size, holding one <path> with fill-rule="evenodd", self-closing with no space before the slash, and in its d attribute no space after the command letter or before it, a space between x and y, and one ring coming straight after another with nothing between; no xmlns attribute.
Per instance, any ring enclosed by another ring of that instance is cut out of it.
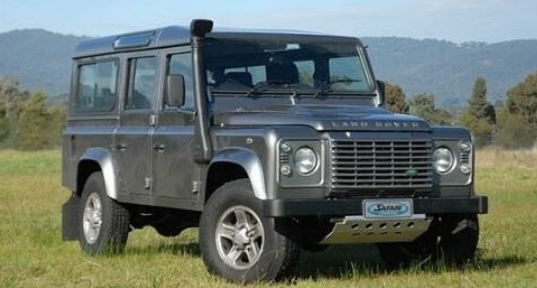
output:
<svg viewBox="0 0 537 288"><path fill-rule="evenodd" d="M26 89L65 94L70 56L84 39L39 29L1 33L0 76L16 76ZM493 44L397 37L362 40L369 46L377 78L401 85L408 96L433 93L449 107L466 103L478 76L487 80L489 97L496 101L537 70L537 40Z"/></svg>

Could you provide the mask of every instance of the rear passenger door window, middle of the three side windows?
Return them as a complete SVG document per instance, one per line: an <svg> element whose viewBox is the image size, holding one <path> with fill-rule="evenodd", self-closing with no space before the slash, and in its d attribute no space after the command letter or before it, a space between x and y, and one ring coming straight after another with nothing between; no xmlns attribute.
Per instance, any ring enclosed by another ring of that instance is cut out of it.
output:
<svg viewBox="0 0 537 288"><path fill-rule="evenodd" d="M129 91L125 110L147 110L155 107L157 58L143 57L129 61Z"/></svg>

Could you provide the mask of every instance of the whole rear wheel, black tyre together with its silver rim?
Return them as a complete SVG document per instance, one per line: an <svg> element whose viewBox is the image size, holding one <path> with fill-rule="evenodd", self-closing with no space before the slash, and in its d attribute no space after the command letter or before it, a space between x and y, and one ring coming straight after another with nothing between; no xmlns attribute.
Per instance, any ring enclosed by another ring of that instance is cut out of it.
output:
<svg viewBox="0 0 537 288"><path fill-rule="evenodd" d="M82 250L92 256L122 252L129 236L129 212L108 197L101 172L89 176L80 203L78 241Z"/></svg>

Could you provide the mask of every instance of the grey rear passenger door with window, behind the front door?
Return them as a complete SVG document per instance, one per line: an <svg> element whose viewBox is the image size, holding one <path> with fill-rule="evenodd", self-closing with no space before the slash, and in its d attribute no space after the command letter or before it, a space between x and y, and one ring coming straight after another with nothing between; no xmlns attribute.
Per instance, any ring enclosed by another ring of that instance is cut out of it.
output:
<svg viewBox="0 0 537 288"><path fill-rule="evenodd" d="M128 79L114 141L120 187L126 189L123 193L149 195L149 135L155 125L158 57L148 53L133 55L127 63Z"/></svg>

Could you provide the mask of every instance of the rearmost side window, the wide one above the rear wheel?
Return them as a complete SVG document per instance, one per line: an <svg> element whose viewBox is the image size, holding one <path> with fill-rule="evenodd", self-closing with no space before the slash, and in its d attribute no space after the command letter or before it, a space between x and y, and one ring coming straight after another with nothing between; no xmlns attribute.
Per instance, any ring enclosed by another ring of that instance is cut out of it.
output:
<svg viewBox="0 0 537 288"><path fill-rule="evenodd" d="M74 110L80 113L109 112L117 99L117 62L103 61L79 66Z"/></svg>

